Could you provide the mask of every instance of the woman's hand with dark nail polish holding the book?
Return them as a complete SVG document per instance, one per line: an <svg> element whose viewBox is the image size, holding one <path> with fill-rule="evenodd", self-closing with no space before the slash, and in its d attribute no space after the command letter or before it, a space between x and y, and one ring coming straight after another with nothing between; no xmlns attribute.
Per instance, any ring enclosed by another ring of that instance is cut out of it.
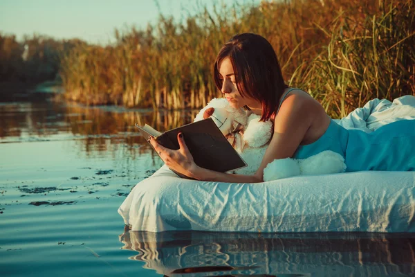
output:
<svg viewBox="0 0 415 277"><path fill-rule="evenodd" d="M192 154L190 154L190 151L187 148L182 133L177 134L177 141L180 146L178 150L165 148L163 145L158 144L153 136L149 136L148 141L153 145L154 150L160 155L160 158L165 162L166 166L183 175L192 177L197 165L194 163Z"/></svg>

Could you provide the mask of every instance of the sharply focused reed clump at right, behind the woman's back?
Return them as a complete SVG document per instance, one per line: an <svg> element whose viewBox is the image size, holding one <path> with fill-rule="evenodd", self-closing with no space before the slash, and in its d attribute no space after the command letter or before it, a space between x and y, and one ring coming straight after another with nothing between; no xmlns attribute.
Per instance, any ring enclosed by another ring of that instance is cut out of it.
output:
<svg viewBox="0 0 415 277"><path fill-rule="evenodd" d="M415 94L414 2L385 1L378 9L363 21L340 11L322 28L329 43L291 76L335 118L373 98Z"/></svg>

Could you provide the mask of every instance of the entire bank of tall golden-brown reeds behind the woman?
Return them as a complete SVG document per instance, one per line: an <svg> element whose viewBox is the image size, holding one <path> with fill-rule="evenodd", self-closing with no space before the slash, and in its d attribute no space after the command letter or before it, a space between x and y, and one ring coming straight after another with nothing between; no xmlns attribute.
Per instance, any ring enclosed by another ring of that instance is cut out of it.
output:
<svg viewBox="0 0 415 277"><path fill-rule="evenodd" d="M66 98L154 109L200 108L220 92L212 64L243 32L266 37L287 83L344 116L367 100L415 93L414 4L409 0L263 1L200 7L176 22L116 30L116 44L79 45L62 58Z"/></svg>

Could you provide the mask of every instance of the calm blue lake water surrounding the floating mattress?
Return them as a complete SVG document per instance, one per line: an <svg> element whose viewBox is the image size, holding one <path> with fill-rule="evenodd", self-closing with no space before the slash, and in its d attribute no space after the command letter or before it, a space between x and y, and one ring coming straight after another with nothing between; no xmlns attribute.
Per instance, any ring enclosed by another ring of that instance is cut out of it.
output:
<svg viewBox="0 0 415 277"><path fill-rule="evenodd" d="M162 165L133 123L194 115L0 103L0 275L414 275L415 234L125 230L118 207Z"/></svg>

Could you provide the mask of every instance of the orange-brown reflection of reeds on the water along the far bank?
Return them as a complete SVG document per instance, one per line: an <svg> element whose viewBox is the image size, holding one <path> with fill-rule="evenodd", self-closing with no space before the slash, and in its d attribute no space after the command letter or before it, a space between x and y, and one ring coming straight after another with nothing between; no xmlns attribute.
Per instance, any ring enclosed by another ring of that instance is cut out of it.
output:
<svg viewBox="0 0 415 277"><path fill-rule="evenodd" d="M145 145L134 123L149 124L163 132L192 122L197 112L84 107L50 101L1 103L0 142L82 139L86 152L106 151L109 144Z"/></svg>

